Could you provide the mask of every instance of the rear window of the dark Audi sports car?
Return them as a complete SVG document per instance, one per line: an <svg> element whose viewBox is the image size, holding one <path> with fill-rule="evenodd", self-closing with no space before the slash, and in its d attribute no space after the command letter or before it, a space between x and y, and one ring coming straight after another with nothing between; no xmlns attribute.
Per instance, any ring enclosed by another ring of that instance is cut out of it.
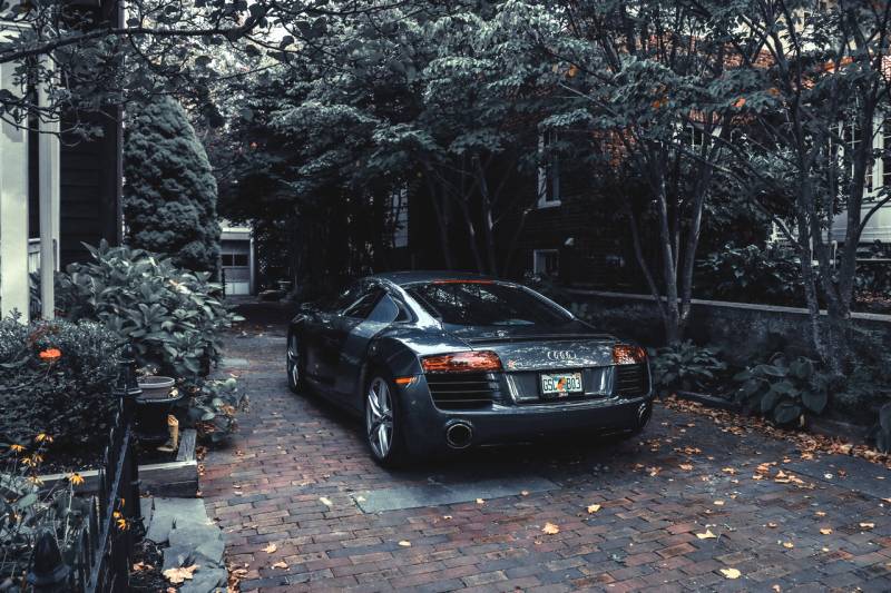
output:
<svg viewBox="0 0 891 593"><path fill-rule="evenodd" d="M505 284L428 283L411 286L407 291L446 324L523 326L569 320L562 310L532 293Z"/></svg>

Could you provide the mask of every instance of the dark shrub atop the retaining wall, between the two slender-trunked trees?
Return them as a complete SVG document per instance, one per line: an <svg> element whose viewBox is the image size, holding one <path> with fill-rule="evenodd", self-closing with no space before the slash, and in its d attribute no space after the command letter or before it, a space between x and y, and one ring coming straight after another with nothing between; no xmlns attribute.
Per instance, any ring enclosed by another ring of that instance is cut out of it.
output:
<svg viewBox="0 0 891 593"><path fill-rule="evenodd" d="M771 305L801 305L804 298L795 254L775 246L727 244L696 263L696 278L701 298Z"/></svg>

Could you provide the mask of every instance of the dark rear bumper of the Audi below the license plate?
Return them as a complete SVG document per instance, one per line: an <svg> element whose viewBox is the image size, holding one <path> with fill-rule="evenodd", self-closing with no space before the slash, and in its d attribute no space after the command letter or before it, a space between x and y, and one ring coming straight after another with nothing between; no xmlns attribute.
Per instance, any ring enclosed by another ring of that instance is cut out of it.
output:
<svg viewBox="0 0 891 593"><path fill-rule="evenodd" d="M420 386L419 386L420 387ZM419 454L448 451L449 426L471 427L470 446L532 441L548 435L584 432L609 434L636 431L649 419L653 394L640 397L605 396L584 402L499 405L474 411L441 411L429 392L403 394L403 423L409 447Z"/></svg>

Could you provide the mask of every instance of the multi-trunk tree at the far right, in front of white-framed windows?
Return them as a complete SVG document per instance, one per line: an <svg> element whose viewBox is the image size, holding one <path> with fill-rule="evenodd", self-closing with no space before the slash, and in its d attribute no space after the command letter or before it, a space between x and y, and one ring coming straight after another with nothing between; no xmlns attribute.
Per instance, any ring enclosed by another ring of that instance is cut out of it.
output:
<svg viewBox="0 0 891 593"><path fill-rule="evenodd" d="M841 377L851 363L856 248L870 218L891 200L891 188L872 182L877 160L891 148L873 144L889 126L891 3L845 0L813 9L802 0L737 0L703 8L709 22L742 24L717 31L737 56L758 49L738 80L747 134L726 146L741 187L797 250L811 339ZM789 196L787 206L764 204L770 194Z"/></svg>

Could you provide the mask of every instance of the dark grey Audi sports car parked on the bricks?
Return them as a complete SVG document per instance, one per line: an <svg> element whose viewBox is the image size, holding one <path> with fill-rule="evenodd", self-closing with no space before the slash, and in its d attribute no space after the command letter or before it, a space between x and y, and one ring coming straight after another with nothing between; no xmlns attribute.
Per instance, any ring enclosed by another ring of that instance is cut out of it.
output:
<svg viewBox="0 0 891 593"><path fill-rule="evenodd" d="M381 274L302 306L286 364L292 391L361 415L382 465L569 431L636 434L653 403L643 348L471 274Z"/></svg>

